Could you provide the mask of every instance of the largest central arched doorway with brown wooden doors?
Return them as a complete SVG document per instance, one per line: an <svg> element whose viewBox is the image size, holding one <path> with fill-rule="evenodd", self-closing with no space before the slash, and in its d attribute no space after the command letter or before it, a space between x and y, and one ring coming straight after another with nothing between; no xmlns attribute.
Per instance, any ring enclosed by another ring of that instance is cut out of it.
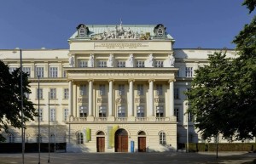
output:
<svg viewBox="0 0 256 164"><path fill-rule="evenodd" d="M114 134L115 152L128 152L128 133L125 129L119 129Z"/></svg>

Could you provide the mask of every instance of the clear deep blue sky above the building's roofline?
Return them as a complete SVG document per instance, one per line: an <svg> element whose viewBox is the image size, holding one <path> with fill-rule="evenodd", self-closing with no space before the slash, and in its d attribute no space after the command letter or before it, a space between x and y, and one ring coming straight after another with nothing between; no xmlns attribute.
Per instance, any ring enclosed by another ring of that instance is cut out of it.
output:
<svg viewBox="0 0 256 164"><path fill-rule="evenodd" d="M164 24L174 48L235 48L243 0L0 0L0 49L68 48L80 23Z"/></svg>

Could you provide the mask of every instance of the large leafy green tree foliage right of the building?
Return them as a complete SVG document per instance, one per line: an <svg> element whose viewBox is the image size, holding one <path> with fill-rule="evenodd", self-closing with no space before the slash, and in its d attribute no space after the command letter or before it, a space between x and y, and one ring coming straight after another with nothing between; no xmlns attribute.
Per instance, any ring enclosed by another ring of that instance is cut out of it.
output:
<svg viewBox="0 0 256 164"><path fill-rule="evenodd" d="M255 0L246 0L250 13ZM205 139L222 133L225 139L256 136L256 17L235 37L238 56L209 55L209 65L196 72L187 92L189 112Z"/></svg>

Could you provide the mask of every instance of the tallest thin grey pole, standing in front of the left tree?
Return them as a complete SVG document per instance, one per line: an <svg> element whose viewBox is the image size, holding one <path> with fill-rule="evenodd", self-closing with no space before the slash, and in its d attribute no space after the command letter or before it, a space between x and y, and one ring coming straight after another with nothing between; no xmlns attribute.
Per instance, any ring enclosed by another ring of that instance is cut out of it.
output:
<svg viewBox="0 0 256 164"><path fill-rule="evenodd" d="M21 103L21 140L22 140L22 164L24 164L25 151L25 130L24 130L24 112L23 112L23 76L22 76L22 49L20 49L20 103Z"/></svg>

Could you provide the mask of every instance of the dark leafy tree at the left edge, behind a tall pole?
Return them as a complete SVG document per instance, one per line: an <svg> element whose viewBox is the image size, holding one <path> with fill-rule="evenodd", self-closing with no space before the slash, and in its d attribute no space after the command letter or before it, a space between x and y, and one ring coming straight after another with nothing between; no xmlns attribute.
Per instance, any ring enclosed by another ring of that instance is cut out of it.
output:
<svg viewBox="0 0 256 164"><path fill-rule="evenodd" d="M22 73L23 93L31 93L28 82L28 75ZM20 69L12 73L9 72L9 66L0 60L0 141L4 141L3 131L9 133L9 126L20 128L21 122L21 93L20 93ZM37 116L36 109L25 94L23 94L23 113L24 122L33 120Z"/></svg>

